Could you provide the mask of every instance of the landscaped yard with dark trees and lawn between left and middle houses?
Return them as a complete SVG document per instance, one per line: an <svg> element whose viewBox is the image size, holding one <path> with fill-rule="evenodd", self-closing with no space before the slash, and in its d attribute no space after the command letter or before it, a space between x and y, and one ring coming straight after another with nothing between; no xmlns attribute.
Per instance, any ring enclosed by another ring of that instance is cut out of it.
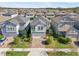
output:
<svg viewBox="0 0 79 59"><path fill-rule="evenodd" d="M28 30L25 28L24 30L19 31L18 36L14 38L11 48L30 48L31 41L30 28L28 28Z"/></svg>

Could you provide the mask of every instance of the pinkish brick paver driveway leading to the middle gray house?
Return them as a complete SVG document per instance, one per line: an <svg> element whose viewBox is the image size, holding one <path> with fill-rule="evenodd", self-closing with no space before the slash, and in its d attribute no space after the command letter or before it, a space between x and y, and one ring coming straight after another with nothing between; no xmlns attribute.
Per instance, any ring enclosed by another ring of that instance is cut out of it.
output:
<svg viewBox="0 0 79 59"><path fill-rule="evenodd" d="M33 37L31 48L44 48L42 41L44 41L42 37Z"/></svg>

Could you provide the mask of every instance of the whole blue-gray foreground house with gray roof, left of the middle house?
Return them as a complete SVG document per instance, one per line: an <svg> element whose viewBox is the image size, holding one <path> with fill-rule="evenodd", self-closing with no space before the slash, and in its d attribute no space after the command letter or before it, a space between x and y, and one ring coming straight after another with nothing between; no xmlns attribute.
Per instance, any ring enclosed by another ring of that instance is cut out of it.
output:
<svg viewBox="0 0 79 59"><path fill-rule="evenodd" d="M19 34L30 23L30 20L23 16L16 16L2 23L2 34L5 37L13 37Z"/></svg>

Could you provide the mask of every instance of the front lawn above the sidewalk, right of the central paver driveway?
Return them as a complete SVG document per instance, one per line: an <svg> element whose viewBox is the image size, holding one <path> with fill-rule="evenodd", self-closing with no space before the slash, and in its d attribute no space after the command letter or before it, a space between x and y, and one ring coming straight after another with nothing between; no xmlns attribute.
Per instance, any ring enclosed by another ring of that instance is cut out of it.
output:
<svg viewBox="0 0 79 59"><path fill-rule="evenodd" d="M62 44L59 43L57 39L54 39L53 36L48 36L48 38L51 40L51 43L46 45L46 48L75 48L75 46L73 46L71 42L68 44Z"/></svg>

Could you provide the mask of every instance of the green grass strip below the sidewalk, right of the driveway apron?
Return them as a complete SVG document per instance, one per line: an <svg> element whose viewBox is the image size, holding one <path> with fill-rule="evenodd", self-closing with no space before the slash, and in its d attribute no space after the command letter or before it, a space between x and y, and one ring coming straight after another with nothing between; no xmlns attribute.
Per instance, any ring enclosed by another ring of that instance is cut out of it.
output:
<svg viewBox="0 0 79 59"><path fill-rule="evenodd" d="M48 56L78 56L77 52L47 52Z"/></svg>

